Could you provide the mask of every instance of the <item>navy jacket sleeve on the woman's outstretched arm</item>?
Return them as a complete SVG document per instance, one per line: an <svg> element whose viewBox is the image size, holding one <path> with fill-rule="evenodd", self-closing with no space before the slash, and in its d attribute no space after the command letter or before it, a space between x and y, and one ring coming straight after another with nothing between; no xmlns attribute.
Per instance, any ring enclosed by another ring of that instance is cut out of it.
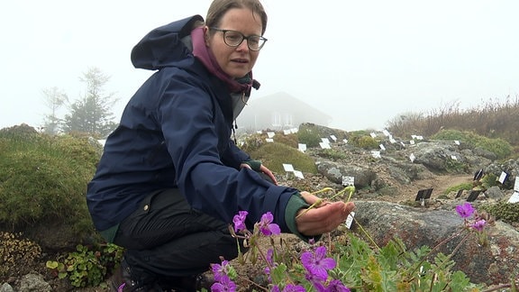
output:
<svg viewBox="0 0 519 292"><path fill-rule="evenodd" d="M205 90L182 78L169 82L163 89L156 118L176 169L178 187L189 204L227 223L238 211L247 210L250 226L270 211L274 222L289 233L285 210L297 190L271 184L251 169L226 166L222 154L236 163L244 153L236 146L229 153L219 152L225 148L222 143L229 142L229 136L219 138L224 136L222 127L228 125L215 117L221 114L215 109L218 105Z"/></svg>

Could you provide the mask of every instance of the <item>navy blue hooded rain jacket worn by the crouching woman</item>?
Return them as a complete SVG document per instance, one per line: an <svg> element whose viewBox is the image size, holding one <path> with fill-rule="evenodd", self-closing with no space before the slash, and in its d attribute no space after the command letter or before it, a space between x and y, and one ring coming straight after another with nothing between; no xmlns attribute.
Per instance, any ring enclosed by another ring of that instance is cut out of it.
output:
<svg viewBox="0 0 519 292"><path fill-rule="evenodd" d="M193 208L224 222L247 210L251 226L270 211L289 232L285 210L297 190L240 169L250 157L231 140L230 92L181 41L196 20L202 17L159 27L132 50L136 68L157 72L126 105L87 186L99 231L119 224L150 192L178 187Z"/></svg>

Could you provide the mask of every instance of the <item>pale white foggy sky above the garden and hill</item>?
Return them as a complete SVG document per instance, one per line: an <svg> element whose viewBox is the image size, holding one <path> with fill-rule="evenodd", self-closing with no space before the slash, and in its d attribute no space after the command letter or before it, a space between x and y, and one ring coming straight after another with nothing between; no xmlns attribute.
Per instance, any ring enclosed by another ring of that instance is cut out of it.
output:
<svg viewBox="0 0 519 292"><path fill-rule="evenodd" d="M0 11L0 128L42 124L41 93L71 100L79 77L99 68L126 101L151 72L130 51L150 30L211 1L7 0ZM269 39L252 98L286 92L330 114L343 130L383 129L408 112L466 109L519 94L517 0L264 0ZM273 105L274 106L274 105ZM245 109L246 111L246 109Z"/></svg>

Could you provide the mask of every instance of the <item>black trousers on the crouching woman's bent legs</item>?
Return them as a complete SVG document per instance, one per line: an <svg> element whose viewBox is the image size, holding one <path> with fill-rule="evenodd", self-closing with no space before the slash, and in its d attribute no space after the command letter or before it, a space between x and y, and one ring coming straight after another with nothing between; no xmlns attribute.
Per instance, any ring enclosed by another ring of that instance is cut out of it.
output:
<svg viewBox="0 0 519 292"><path fill-rule="evenodd" d="M132 271L157 278L200 274L221 256L238 256L228 224L192 209L178 188L146 196L120 224L114 243L126 249Z"/></svg>

